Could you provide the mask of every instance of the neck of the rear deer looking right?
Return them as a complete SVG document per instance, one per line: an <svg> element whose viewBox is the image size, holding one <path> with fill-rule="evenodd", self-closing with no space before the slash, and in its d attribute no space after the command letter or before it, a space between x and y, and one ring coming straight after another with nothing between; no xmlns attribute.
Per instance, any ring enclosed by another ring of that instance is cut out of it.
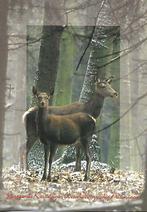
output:
<svg viewBox="0 0 147 212"><path fill-rule="evenodd" d="M97 118L101 112L104 104L104 97L100 94L94 94L88 102L85 103L85 110L87 113Z"/></svg>

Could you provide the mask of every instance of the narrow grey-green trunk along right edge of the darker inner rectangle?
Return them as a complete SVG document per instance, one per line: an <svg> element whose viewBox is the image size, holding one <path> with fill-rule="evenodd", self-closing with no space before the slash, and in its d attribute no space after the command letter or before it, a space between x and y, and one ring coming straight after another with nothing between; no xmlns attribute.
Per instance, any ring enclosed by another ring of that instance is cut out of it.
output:
<svg viewBox="0 0 147 212"><path fill-rule="evenodd" d="M116 38L113 41L113 54L120 51L120 28L116 28L118 30L118 34L116 34ZM112 59L115 57L118 57L118 54L114 54L112 56ZM114 82L113 82L113 88L117 90L118 93L120 93L120 60L116 60L112 63L111 66L111 73L115 76ZM113 99L109 99L110 101L113 101ZM111 107L111 123L118 119L120 115L120 95L118 96L117 100L114 101L113 106ZM111 161L114 162L115 167L119 167L120 165L120 159L119 159L119 150L120 150L120 143L119 143L119 135L120 135L120 126L119 122L117 122L115 125L111 126L110 128L110 143L109 144L109 156L108 156L108 162Z"/></svg>

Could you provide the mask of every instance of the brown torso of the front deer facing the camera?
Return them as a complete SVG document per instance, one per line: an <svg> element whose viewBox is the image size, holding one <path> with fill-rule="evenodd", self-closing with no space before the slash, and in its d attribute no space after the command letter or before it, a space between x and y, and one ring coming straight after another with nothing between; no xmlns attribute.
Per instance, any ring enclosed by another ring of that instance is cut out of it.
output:
<svg viewBox="0 0 147 212"><path fill-rule="evenodd" d="M46 139L58 144L73 144L78 138L87 137L95 128L93 119L85 113L49 115L44 123Z"/></svg>

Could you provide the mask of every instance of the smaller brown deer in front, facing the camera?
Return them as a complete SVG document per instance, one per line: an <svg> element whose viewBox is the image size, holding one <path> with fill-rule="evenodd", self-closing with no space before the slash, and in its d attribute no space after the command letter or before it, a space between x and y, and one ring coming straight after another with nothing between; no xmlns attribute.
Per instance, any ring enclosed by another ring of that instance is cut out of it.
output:
<svg viewBox="0 0 147 212"><path fill-rule="evenodd" d="M86 155L86 173L84 180L89 179L90 154L88 148L89 137L92 136L96 120L87 113L70 115L49 114L46 93L38 93L33 88L33 94L38 99L37 128L40 141L44 144L45 165L42 180L51 181L51 165L58 145L71 145L80 142ZM50 154L49 154L50 153ZM49 157L49 172L47 176L47 161Z"/></svg>

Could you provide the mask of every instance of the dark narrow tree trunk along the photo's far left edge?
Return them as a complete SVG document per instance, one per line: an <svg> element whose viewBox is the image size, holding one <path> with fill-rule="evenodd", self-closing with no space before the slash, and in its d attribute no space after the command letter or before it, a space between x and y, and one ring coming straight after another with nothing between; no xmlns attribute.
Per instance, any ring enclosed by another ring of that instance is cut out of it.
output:
<svg viewBox="0 0 147 212"><path fill-rule="evenodd" d="M2 168L3 168L3 133L5 117L5 90L6 71L8 59L8 34L7 34L8 0L0 3L0 189L2 189Z"/></svg>

